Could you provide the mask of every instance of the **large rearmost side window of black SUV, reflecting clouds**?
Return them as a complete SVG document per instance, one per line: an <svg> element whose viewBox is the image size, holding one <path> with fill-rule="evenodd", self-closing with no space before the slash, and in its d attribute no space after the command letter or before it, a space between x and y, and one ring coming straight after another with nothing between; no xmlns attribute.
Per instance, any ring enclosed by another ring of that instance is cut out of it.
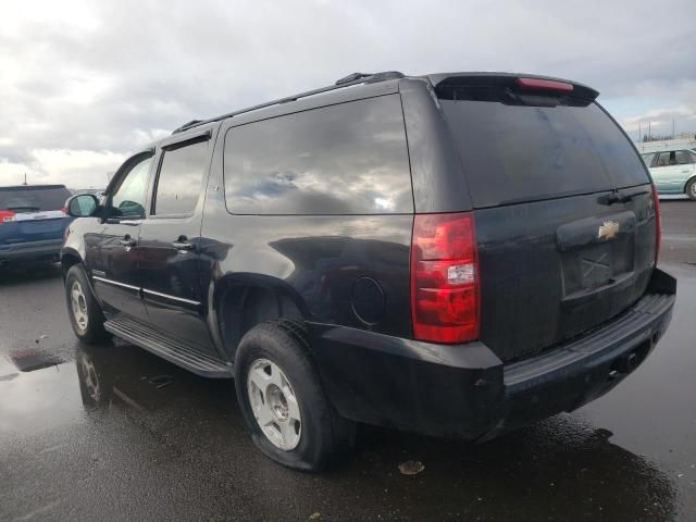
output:
<svg viewBox="0 0 696 522"><path fill-rule="evenodd" d="M233 127L224 176L235 214L413 211L398 95Z"/></svg>

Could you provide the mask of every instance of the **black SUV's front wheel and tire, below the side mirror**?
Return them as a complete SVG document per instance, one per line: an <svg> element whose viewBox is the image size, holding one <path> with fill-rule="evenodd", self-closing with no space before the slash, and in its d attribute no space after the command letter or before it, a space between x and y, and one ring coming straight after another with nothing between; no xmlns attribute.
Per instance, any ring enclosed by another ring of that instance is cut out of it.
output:
<svg viewBox="0 0 696 522"><path fill-rule="evenodd" d="M104 315L91 293L82 264L75 264L65 275L65 299L70 323L79 340L94 345L108 337Z"/></svg>

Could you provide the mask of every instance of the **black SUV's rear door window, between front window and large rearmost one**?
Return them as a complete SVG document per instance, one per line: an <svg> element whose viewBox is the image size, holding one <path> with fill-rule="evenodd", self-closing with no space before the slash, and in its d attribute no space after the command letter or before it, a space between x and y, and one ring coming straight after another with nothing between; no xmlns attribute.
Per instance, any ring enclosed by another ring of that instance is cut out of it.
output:
<svg viewBox="0 0 696 522"><path fill-rule="evenodd" d="M160 164L153 214L191 214L208 164L208 137L167 147Z"/></svg>

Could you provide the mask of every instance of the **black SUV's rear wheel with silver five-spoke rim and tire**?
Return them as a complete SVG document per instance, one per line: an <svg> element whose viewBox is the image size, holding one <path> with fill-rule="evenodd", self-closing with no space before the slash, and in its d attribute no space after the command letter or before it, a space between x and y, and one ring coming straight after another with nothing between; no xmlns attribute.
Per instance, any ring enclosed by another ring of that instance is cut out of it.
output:
<svg viewBox="0 0 696 522"><path fill-rule="evenodd" d="M259 375L263 383L257 385ZM272 389L278 382L283 383L276 386L283 391L281 399ZM266 387L261 389L263 386ZM282 465L321 471L355 443L356 425L341 418L326 399L310 358L307 333L297 322L262 323L243 337L235 358L235 388L253 444ZM285 411L287 418L277 414L274 403L281 405L281 413ZM269 411L264 413L265 406ZM298 413L300 419L295 419ZM278 444L283 442L287 444Z"/></svg>

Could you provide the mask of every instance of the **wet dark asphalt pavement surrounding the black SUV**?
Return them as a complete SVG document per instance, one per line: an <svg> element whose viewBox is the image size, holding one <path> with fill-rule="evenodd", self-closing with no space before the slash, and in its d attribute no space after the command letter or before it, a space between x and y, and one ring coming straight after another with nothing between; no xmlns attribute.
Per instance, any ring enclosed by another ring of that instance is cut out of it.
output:
<svg viewBox="0 0 696 522"><path fill-rule="evenodd" d="M0 520L694 521L696 203L662 209L672 325L609 395L482 445L361 426L322 475L254 449L231 382L79 345L57 269L0 273Z"/></svg>

